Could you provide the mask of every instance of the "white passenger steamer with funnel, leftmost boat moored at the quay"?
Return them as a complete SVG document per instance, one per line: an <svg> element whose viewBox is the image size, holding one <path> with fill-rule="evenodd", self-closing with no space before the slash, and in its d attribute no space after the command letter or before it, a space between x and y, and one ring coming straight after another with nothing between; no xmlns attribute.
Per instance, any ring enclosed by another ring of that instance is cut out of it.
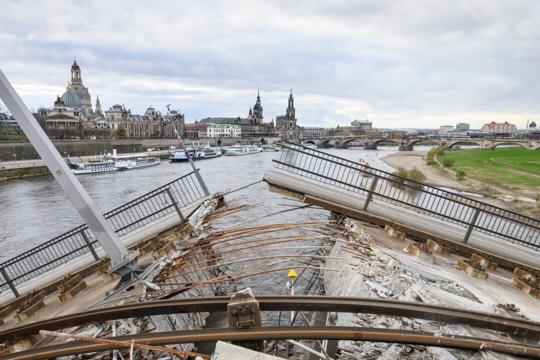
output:
<svg viewBox="0 0 540 360"><path fill-rule="evenodd" d="M148 154L117 155L116 148L112 154L106 155L104 161L71 162L72 172L79 174L103 173L114 170L126 170L159 164L159 158L149 157Z"/></svg>

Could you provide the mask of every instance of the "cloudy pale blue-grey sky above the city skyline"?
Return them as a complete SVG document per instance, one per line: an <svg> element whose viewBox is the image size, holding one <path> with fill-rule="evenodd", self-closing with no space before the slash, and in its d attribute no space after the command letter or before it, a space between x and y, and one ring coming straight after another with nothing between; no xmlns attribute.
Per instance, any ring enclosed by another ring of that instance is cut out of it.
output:
<svg viewBox="0 0 540 360"><path fill-rule="evenodd" d="M539 1L0 0L0 69L31 110L73 57L92 103L301 126L540 123Z"/></svg>

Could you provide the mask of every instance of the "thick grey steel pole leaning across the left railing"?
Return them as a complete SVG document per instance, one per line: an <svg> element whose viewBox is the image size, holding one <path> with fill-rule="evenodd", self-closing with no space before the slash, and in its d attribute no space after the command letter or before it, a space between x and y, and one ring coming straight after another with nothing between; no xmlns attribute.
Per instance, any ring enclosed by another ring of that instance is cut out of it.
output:
<svg viewBox="0 0 540 360"><path fill-rule="evenodd" d="M124 244L114 233L112 227L107 223L96 204L86 193L80 182L75 178L75 174L62 159L51 140L47 137L43 129L32 116L28 107L14 87L9 83L8 78L0 70L0 98L5 106L17 120L23 129L26 137L32 143L40 157L49 168L55 180L64 190L66 195L84 219L91 232L96 236L97 241L103 247L107 256L110 257L113 267L119 268L132 262L138 252L128 253Z"/></svg>

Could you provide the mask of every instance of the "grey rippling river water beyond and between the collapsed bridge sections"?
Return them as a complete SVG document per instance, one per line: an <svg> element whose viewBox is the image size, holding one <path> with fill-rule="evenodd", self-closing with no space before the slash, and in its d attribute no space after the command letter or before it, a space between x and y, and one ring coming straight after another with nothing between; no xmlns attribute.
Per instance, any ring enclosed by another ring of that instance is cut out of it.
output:
<svg viewBox="0 0 540 360"><path fill-rule="evenodd" d="M421 150L422 147L416 147ZM372 167L393 171L380 159L397 152L397 147L380 147L377 150L363 149L325 149L325 152L353 161L363 159ZM200 172L212 193L226 189L237 189L262 180L267 169L272 169L272 159L279 159L281 152L264 152L237 157L222 156L216 159L196 161ZM116 171L99 174L78 175L84 186L102 212L107 212L123 203L152 191L167 182L190 172L187 163L162 161L151 166L130 171ZM285 209L287 202L281 195L269 192L264 182L253 185L230 195L244 198L245 202L264 205L227 216L227 221L243 221ZM291 201L288 201L291 203ZM58 186L52 175L37 176L0 182L0 261L5 261L19 253L48 241L80 224L75 207ZM295 214L296 213L296 214ZM301 213L301 214L300 214ZM325 210L306 209L275 215L259 223L278 223L290 221L327 220ZM250 224L251 225L251 224ZM247 225L244 225L247 226Z"/></svg>

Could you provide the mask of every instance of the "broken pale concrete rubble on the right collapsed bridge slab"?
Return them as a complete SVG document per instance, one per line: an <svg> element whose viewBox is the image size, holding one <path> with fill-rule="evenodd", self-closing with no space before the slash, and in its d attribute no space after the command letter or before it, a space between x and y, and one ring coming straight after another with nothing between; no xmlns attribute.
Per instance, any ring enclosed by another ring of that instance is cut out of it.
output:
<svg viewBox="0 0 540 360"><path fill-rule="evenodd" d="M340 273L325 271L325 285L327 294L331 296L359 296L393 298L401 301L422 302L428 304L445 304L447 296L441 296L441 291L460 296L465 299L482 303L478 298L461 284L444 279L433 274L415 273L414 268L400 266L400 261L377 248L376 242L356 221L342 220L347 229L355 230L359 243L370 243L372 254L361 258L348 255L343 250L343 244L336 242L330 255L347 256L346 266L342 266ZM422 245L422 244L420 244ZM418 245L417 245L418 246ZM325 266L339 267L338 263L329 259ZM473 264L475 268L480 266ZM407 270L404 270L407 268ZM409 270L411 269L411 270ZM429 275L429 276L428 276ZM438 289L434 291L433 288ZM440 298L435 296L441 296ZM522 317L514 304L501 305L500 311L507 316ZM496 312L495 309L492 311ZM346 314L338 313L335 316L336 326L356 326L365 328L388 328L413 331L427 331L434 334L457 336L480 336L497 338L498 333L489 330L470 328L459 324L446 324L436 321L412 319L407 317L384 316L373 314ZM507 339L508 341L508 339ZM307 356L307 355L306 355ZM307 358L307 357L301 357ZM465 351L455 349L442 349L435 347L419 347L415 345L389 344L382 342L355 342L340 341L336 359L444 359L444 360L495 360L508 359L511 356L495 354L490 351Z"/></svg>

